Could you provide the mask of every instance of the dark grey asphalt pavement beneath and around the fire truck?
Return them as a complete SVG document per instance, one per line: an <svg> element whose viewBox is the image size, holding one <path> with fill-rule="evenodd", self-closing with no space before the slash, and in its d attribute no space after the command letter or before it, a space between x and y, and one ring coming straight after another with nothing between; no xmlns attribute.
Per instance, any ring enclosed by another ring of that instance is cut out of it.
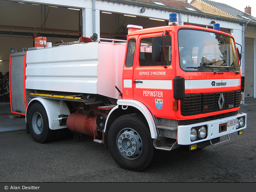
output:
<svg viewBox="0 0 256 192"><path fill-rule="evenodd" d="M104 145L91 136L40 144L26 134L24 118L0 103L0 184L4 182L256 182L256 98L245 99L242 135L201 150L161 151L158 160L141 172L120 168ZM5 185L10 188L10 185ZM86 186L85 186L86 187ZM128 188L127 188L128 189ZM2 188L0 188L2 190Z"/></svg>

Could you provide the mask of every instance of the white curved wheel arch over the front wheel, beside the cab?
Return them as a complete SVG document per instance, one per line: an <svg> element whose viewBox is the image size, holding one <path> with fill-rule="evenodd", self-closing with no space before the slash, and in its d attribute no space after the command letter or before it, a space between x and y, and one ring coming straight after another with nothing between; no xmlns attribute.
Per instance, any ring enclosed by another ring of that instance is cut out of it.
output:
<svg viewBox="0 0 256 192"><path fill-rule="evenodd" d="M129 114L131 111L137 111L139 114L142 114L145 121L148 123L148 127L150 129L151 138L157 138L156 131L156 123L154 121L154 117L151 114L150 110L141 102L135 100L128 99L120 99L117 101L117 106L115 106L111 112L108 114L105 124L104 132L108 132L111 124L117 119L119 116L124 114ZM128 110L127 110L128 109Z"/></svg>

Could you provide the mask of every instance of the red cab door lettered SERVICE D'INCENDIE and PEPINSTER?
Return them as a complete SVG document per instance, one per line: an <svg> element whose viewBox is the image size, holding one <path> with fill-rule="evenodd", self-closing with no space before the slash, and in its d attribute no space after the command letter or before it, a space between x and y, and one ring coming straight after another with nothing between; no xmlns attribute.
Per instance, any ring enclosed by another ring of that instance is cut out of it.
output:
<svg viewBox="0 0 256 192"><path fill-rule="evenodd" d="M165 60L154 63L152 59L153 37L139 38L139 53L135 56L133 71L133 98L147 106L157 117L168 117L172 111L172 80L174 69L171 65L171 36L164 36ZM170 110L171 109L171 110Z"/></svg>

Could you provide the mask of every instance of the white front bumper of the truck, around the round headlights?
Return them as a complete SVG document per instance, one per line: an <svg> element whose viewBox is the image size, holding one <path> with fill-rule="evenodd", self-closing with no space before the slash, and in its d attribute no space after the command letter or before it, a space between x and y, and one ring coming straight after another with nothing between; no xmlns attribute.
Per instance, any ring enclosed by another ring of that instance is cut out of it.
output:
<svg viewBox="0 0 256 192"><path fill-rule="evenodd" d="M241 116L245 117L245 123L243 127L240 127L238 129L236 129L236 125L230 125L228 126L228 121L234 120L236 118L239 118ZM220 125L223 125L226 123L226 130L220 131ZM192 127L200 127L203 125L207 125L207 136L204 139L200 139L200 140L195 140L195 141L191 141L190 140L190 131L192 129ZM247 114L246 113L241 113L241 114L236 114L233 116L229 116L223 119L215 119L212 121L205 121L202 123L195 123L192 125L179 125L178 126L178 145L193 145L195 143L199 143L199 142L204 142L204 141L208 141L208 140L212 140L215 138L219 138L221 136L224 135L228 135L234 132L238 132L241 129L245 129L247 125Z"/></svg>

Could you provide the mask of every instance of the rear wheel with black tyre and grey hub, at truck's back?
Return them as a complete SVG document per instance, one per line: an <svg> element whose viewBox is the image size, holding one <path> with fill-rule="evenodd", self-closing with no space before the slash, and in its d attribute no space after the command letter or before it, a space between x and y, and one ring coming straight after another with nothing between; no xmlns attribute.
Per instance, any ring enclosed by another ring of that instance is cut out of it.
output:
<svg viewBox="0 0 256 192"><path fill-rule="evenodd" d="M56 130L49 128L48 116L40 103L31 106L28 112L28 127L32 138L39 143L50 142L56 137Z"/></svg>

